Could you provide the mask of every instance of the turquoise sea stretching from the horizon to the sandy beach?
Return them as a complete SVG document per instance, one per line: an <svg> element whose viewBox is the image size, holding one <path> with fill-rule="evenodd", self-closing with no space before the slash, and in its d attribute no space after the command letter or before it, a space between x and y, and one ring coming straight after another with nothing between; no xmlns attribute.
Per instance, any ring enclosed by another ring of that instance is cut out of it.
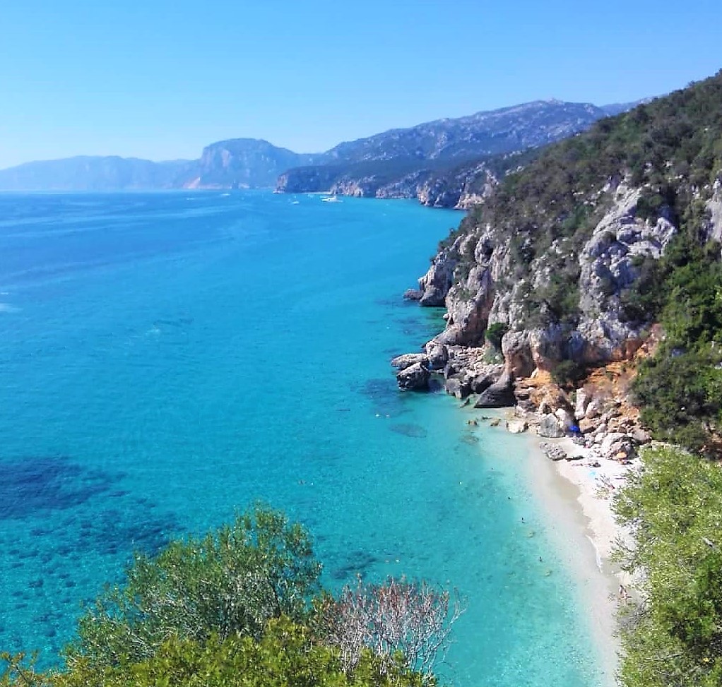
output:
<svg viewBox="0 0 722 687"><path fill-rule="evenodd" d="M388 367L442 324L400 294L459 219L250 191L0 196L0 648L53 660L134 549L264 499L311 530L328 585L458 587L453 685L598 685L524 440L469 431Z"/></svg>

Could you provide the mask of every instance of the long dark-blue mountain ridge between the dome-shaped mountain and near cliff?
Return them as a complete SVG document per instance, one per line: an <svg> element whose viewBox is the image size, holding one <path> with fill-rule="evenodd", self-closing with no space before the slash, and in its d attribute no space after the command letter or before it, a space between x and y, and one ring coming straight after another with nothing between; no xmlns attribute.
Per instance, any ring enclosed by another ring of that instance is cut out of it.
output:
<svg viewBox="0 0 722 687"><path fill-rule="evenodd" d="M609 112L630 107L632 103L599 108L589 103L536 100L392 129L339 144L321 158L321 164L284 172L277 190L417 197L426 205L465 207L484 193L493 180L492 168L505 172L515 164L510 154L568 138Z"/></svg>

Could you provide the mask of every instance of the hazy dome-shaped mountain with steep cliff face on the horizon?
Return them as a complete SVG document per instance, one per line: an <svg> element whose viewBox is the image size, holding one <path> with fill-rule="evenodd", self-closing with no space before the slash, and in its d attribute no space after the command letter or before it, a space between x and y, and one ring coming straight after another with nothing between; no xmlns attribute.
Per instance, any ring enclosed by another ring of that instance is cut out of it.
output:
<svg viewBox="0 0 722 687"><path fill-rule="evenodd" d="M322 155L298 154L262 139L230 139L206 146L184 181L188 188L273 187L289 167L313 165Z"/></svg>

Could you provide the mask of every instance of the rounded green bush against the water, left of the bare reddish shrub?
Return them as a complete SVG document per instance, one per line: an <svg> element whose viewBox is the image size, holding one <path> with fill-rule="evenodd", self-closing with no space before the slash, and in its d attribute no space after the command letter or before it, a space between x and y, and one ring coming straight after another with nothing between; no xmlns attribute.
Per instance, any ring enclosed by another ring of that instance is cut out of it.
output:
<svg viewBox="0 0 722 687"><path fill-rule="evenodd" d="M144 660L170 636L258 639L271 618L303 621L320 572L305 530L256 507L215 533L170 543L155 558L136 556L126 582L80 618L69 660Z"/></svg>

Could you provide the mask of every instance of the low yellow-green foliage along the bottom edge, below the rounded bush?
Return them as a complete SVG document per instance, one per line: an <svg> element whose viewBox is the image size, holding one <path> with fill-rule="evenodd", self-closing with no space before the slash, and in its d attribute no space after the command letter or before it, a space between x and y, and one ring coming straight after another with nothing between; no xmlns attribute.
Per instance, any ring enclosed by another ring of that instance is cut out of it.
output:
<svg viewBox="0 0 722 687"><path fill-rule="evenodd" d="M369 650L344 668L339 649L317 642L285 616L262 636L212 634L205 642L171 636L139 662L101 666L84 657L67 671L38 674L11 659L0 685L15 687L422 687L422 676ZM425 683L424 683L425 684ZM433 684L433 681L431 682ZM425 687L426 684L425 684Z"/></svg>

